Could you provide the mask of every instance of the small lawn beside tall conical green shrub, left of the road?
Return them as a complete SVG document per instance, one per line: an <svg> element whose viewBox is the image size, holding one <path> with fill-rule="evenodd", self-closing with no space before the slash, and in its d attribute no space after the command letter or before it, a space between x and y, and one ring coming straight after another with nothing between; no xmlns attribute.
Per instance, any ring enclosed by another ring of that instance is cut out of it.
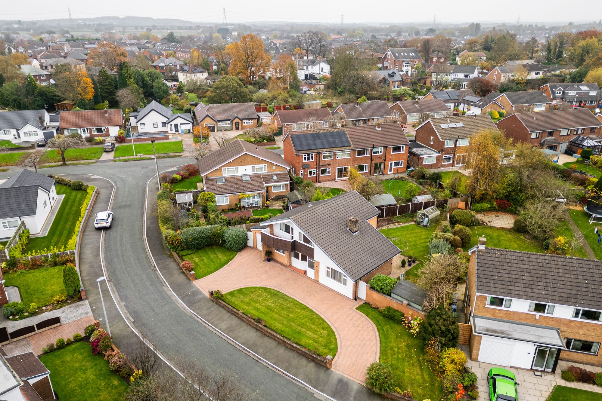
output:
<svg viewBox="0 0 602 401"><path fill-rule="evenodd" d="M22 301L29 305L32 302L38 307L50 304L54 296L64 294L63 266L39 268L20 273L5 273L4 286L19 287Z"/></svg>

